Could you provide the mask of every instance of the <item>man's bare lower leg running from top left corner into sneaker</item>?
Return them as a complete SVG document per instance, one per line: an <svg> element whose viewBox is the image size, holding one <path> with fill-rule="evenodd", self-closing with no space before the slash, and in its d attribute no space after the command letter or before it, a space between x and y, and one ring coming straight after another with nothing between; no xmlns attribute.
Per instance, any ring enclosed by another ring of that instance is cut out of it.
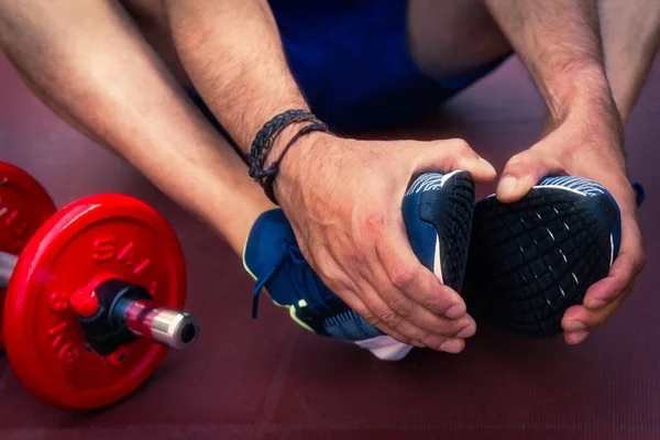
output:
<svg viewBox="0 0 660 440"><path fill-rule="evenodd" d="M220 232L244 221L222 217L235 188L264 199L116 3L1 2L0 43L59 114Z"/></svg>

